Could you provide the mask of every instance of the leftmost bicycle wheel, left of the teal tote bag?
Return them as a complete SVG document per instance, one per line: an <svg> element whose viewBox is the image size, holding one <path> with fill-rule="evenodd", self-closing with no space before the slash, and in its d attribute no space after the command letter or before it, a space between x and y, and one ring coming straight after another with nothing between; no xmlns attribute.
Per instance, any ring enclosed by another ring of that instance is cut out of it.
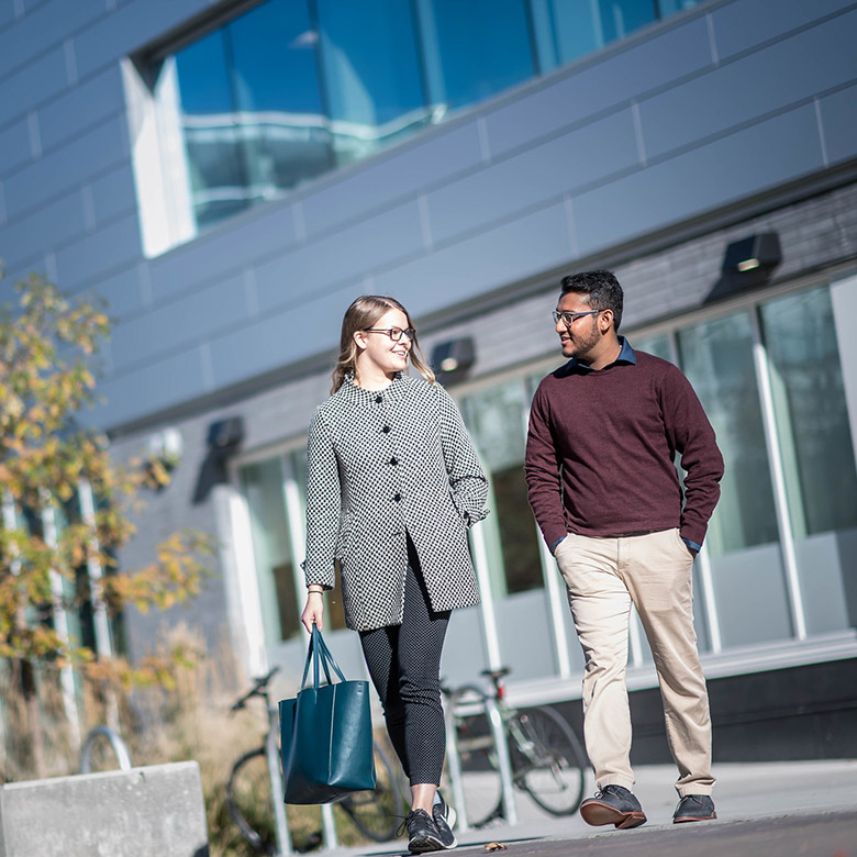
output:
<svg viewBox="0 0 857 857"><path fill-rule="evenodd" d="M226 809L241 835L260 854L276 854L274 806L265 749L245 753L226 782Z"/></svg>

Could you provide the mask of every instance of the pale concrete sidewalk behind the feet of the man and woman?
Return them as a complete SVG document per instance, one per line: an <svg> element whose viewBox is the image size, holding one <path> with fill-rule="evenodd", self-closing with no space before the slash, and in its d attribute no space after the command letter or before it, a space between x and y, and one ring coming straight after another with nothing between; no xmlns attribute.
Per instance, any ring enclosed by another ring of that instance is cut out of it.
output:
<svg viewBox="0 0 857 857"><path fill-rule="evenodd" d="M678 802L672 787L676 780L675 767L639 766L635 768L635 773L637 783L634 792L648 816L646 830L663 825L671 828L672 811ZM857 760L724 763L714 767L714 776L717 777L713 797L717 806L719 821L741 822L771 815L857 809ZM593 791L594 786L590 779L587 794ZM600 834L621 836L624 833L614 831L610 826L590 827L579 814L569 819L548 816L530 800L528 795L521 792L515 794L519 824L511 826L497 822L488 827L459 833L459 846L476 846L490 842L511 844L544 838L582 839ZM854 838L857 842L857 831ZM407 853L408 849L401 839L382 845L374 844L329 852L337 857ZM509 853L511 848L507 852Z"/></svg>

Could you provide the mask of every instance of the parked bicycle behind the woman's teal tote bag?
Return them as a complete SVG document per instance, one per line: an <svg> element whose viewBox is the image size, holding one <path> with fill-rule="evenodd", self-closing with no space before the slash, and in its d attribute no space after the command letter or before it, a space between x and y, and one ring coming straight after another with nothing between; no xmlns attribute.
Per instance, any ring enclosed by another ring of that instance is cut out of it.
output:
<svg viewBox="0 0 857 857"><path fill-rule="evenodd" d="M285 853L289 836L282 797L279 711L271 704L268 690L278 670L279 667L274 667L267 676L255 679L253 687L232 705L231 711L234 713L244 709L254 697L260 698L268 715L268 730L261 746L248 750L235 761L226 781L226 809L232 820L254 850L267 855ZM396 836L402 798L396 769L377 742L375 769L375 791L355 792L336 805L342 808L365 837L374 842L387 842ZM321 843L321 834L312 834L305 842L296 844L294 850L311 850Z"/></svg>

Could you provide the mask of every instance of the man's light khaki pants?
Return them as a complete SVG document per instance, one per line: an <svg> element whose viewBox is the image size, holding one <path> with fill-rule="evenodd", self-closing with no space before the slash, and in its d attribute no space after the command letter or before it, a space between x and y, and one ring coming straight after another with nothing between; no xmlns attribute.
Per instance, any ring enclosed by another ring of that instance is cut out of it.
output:
<svg viewBox="0 0 857 857"><path fill-rule="evenodd" d="M631 789L625 687L632 602L660 683L679 795L711 794L711 719L693 628L693 557L678 530L592 538L569 533L556 549L583 647L583 733L596 783Z"/></svg>

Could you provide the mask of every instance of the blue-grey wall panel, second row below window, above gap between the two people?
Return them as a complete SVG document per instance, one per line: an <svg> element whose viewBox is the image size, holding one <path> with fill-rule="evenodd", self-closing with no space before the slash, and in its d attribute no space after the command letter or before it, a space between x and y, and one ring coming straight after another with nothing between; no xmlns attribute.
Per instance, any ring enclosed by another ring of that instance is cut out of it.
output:
<svg viewBox="0 0 857 857"><path fill-rule="evenodd" d="M432 240L454 240L637 160L634 120L623 110L426 194Z"/></svg>

